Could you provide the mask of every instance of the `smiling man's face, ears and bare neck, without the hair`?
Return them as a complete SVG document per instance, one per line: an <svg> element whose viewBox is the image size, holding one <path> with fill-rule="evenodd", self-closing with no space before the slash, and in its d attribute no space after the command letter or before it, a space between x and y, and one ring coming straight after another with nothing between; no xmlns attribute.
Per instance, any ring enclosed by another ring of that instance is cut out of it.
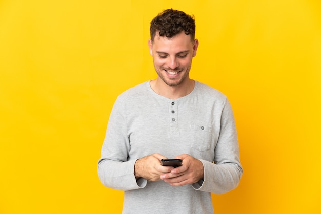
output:
<svg viewBox="0 0 321 214"><path fill-rule="evenodd" d="M149 50L153 56L158 78L150 82L152 89L168 98L179 98L189 94L194 81L189 78L192 58L196 56L198 40L180 32L173 37L164 37L157 31L149 39Z"/></svg>

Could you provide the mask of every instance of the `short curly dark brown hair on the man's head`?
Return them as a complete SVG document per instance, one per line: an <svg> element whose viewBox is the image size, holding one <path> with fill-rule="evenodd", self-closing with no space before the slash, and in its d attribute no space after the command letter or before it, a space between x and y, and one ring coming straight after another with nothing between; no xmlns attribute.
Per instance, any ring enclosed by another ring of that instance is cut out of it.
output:
<svg viewBox="0 0 321 214"><path fill-rule="evenodd" d="M159 36L171 38L184 31L186 35L191 35L191 40L195 39L195 18L183 11L167 9L159 13L150 23L150 38L154 41L156 32Z"/></svg>

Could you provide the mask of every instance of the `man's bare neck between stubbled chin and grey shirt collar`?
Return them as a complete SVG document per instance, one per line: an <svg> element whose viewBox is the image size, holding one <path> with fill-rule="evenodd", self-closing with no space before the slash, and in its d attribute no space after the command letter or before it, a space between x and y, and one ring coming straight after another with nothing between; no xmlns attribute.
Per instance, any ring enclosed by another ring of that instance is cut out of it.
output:
<svg viewBox="0 0 321 214"><path fill-rule="evenodd" d="M189 78L176 86L169 86L160 78L150 81L150 87L154 92L169 99L178 99L188 95L193 91L194 86L195 81Z"/></svg>

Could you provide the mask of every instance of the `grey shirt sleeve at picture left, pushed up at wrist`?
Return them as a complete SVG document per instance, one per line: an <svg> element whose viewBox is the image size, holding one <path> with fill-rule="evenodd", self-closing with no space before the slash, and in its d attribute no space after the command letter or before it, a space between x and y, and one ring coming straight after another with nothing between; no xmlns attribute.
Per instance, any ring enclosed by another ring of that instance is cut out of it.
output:
<svg viewBox="0 0 321 214"><path fill-rule="evenodd" d="M147 180L136 180L134 176L137 159L127 160L130 143L121 106L121 102L116 100L109 117L101 158L98 161L99 180L104 186L118 190L144 188Z"/></svg>

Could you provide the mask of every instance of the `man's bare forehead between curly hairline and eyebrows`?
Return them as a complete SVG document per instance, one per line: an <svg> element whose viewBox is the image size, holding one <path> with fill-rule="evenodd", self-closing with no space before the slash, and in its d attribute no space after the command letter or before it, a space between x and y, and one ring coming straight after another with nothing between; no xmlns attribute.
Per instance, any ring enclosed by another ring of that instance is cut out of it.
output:
<svg viewBox="0 0 321 214"><path fill-rule="evenodd" d="M158 32L154 37L152 43L153 49L155 51L161 52L180 52L186 51L193 48L193 42L191 41L191 36L186 35L184 32L168 38L166 36L159 36Z"/></svg>

